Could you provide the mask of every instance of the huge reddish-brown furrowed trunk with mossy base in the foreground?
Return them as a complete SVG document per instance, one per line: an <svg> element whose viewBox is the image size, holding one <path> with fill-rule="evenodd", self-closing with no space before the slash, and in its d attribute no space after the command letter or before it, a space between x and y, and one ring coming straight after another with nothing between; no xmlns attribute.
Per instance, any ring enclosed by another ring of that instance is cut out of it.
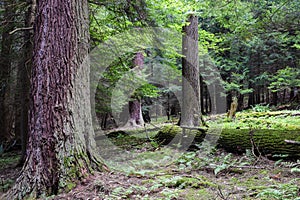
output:
<svg viewBox="0 0 300 200"><path fill-rule="evenodd" d="M4 199L39 198L104 167L95 156L87 1L37 1L27 157Z"/></svg>

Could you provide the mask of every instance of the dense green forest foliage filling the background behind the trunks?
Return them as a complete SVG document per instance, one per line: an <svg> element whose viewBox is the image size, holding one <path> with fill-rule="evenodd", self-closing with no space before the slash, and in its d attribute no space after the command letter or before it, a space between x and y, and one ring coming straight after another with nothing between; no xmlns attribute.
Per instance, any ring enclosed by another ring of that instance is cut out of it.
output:
<svg viewBox="0 0 300 200"><path fill-rule="evenodd" d="M5 138L11 137L7 134L14 135L14 132L20 134L17 129L13 130L14 127L20 127L19 108L22 106L17 96L22 94L22 88L18 87L24 82L20 74L30 75L30 62L19 55L28 52L25 44L30 40L27 33L31 27L26 21L32 2L15 0L1 3L0 18L3 23L0 48L2 55L9 55L1 59L0 103L7 107L7 102L12 102L9 104L10 110L5 111L11 117L2 122L10 126ZM300 3L297 0L90 0L89 6L91 50L133 29L160 27L177 33L168 40L158 36L156 39L163 47L138 46L139 51L143 51L145 65L151 65L153 71L159 71L159 79L170 81L179 80L181 73L182 27L186 25L189 15L197 15L203 113L210 113L215 106L214 99L220 97L212 90L212 85L216 83L224 88L222 91L226 94L218 95L226 95L228 106L232 98L238 99L239 110L256 104L287 104L290 108L298 108ZM136 50L129 48L124 52L116 55L116 59L107 66L97 86L96 110L100 118L111 116L112 89L124 74L134 68L132 61ZM178 114L180 108L173 97L180 90L180 85L169 88L153 84L148 78L151 74L149 69L142 73L141 87L133 96L143 100L144 109L150 98L150 104L159 102L164 112ZM117 96L119 99L115 107L121 112L126 100L121 93Z"/></svg>

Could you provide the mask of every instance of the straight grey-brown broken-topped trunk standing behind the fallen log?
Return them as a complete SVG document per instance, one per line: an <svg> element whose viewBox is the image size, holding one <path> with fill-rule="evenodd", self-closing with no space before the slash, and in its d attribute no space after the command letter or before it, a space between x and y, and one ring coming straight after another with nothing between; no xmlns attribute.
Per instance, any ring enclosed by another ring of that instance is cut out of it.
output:
<svg viewBox="0 0 300 200"><path fill-rule="evenodd" d="M198 17L191 15L183 27L182 91L183 106L180 125L199 126L201 120L198 55Z"/></svg>

